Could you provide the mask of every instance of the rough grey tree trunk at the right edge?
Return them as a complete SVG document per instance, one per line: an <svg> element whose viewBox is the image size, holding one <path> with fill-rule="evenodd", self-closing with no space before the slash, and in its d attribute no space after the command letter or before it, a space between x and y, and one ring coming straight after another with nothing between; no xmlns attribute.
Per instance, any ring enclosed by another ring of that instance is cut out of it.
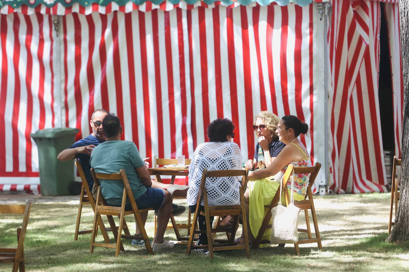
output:
<svg viewBox="0 0 409 272"><path fill-rule="evenodd" d="M390 243L409 239L409 0L399 1L399 13L403 73L402 170L395 226L386 239Z"/></svg>

